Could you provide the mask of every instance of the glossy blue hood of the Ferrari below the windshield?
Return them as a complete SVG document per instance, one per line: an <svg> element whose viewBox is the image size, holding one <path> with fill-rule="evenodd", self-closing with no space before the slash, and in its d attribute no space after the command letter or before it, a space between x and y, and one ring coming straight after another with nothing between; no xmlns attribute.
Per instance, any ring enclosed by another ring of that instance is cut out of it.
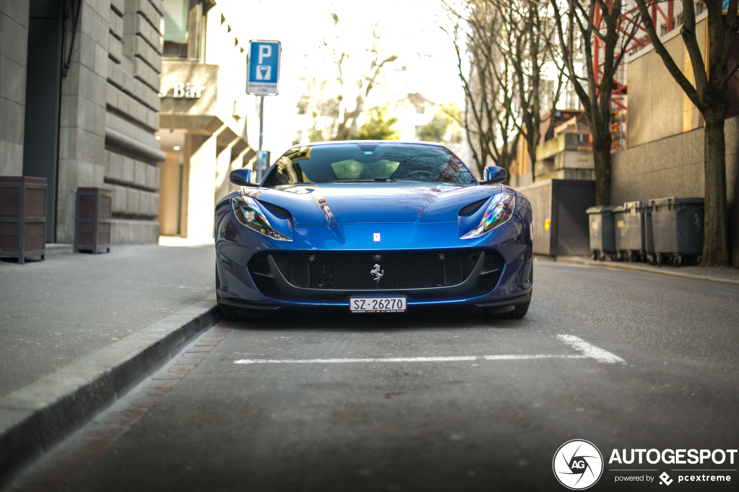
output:
<svg viewBox="0 0 739 492"><path fill-rule="evenodd" d="M462 207L500 193L500 184L343 183L242 189L290 211L295 224L441 224Z"/></svg>

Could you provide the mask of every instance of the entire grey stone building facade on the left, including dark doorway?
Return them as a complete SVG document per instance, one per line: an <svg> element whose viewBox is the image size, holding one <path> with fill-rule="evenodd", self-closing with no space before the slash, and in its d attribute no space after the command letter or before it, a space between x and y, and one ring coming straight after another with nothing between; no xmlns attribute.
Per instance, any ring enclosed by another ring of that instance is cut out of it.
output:
<svg viewBox="0 0 739 492"><path fill-rule="evenodd" d="M0 2L0 175L47 179L47 242L78 187L113 189L112 243L159 237L162 0Z"/></svg>

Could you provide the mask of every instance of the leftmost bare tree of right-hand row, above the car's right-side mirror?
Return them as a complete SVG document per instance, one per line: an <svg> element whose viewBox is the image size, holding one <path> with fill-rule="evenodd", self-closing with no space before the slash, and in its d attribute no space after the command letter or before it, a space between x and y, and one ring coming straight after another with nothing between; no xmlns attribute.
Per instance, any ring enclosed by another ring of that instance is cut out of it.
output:
<svg viewBox="0 0 739 492"><path fill-rule="evenodd" d="M486 0L466 1L461 11L449 4L446 7L454 27L452 32L441 29L452 38L457 51L457 69L466 96L462 125L472 159L479 176L490 161L508 171L514 159L509 142L518 134L513 111L516 84L513 70L497 50L497 9ZM462 43L469 60L463 60Z"/></svg>

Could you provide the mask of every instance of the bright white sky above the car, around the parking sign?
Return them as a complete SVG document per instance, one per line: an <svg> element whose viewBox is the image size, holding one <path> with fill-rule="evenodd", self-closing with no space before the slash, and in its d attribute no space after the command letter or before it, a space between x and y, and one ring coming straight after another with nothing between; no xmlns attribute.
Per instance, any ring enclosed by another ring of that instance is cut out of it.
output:
<svg viewBox="0 0 739 492"><path fill-rule="evenodd" d="M282 153L295 138L290 115L296 113L303 93L301 77L336 77L330 50L319 48L324 36L337 32L331 13L340 17L347 52L369 47L372 27L378 22L383 58L398 56L386 65L384 86L373 89L370 105L392 103L413 92L420 92L434 103L463 105L456 52L439 27L450 25L441 0L231 0L224 7L236 16L227 21L239 39L282 42L280 93L265 98L265 150ZM326 57L331 58L329 63L316 69L316 59ZM398 70L403 66L405 70ZM255 148L258 108L255 97L248 118L249 138Z"/></svg>

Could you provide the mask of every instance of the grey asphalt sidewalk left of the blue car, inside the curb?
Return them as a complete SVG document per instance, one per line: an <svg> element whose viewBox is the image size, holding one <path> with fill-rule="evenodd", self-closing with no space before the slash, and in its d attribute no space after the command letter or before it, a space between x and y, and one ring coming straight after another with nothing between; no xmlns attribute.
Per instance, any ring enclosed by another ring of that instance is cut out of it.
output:
<svg viewBox="0 0 739 492"><path fill-rule="evenodd" d="M0 262L0 398L214 294L214 246Z"/></svg>

